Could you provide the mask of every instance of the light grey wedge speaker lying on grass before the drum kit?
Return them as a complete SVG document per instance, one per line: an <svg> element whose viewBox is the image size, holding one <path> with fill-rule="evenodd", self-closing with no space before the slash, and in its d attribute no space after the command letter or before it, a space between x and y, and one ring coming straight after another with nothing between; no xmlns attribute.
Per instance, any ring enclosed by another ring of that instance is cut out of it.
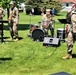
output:
<svg viewBox="0 0 76 75"><path fill-rule="evenodd" d="M60 38L44 37L43 46L60 46Z"/></svg>

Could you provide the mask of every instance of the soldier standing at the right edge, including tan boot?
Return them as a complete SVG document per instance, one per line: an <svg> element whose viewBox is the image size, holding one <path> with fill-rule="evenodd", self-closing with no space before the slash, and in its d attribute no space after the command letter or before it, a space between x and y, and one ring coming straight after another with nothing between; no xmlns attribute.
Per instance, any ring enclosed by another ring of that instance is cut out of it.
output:
<svg viewBox="0 0 76 75"><path fill-rule="evenodd" d="M72 50L73 44L76 40L76 11L73 10L71 13L71 24L67 37L67 55L63 57L63 59L71 59L72 58Z"/></svg>

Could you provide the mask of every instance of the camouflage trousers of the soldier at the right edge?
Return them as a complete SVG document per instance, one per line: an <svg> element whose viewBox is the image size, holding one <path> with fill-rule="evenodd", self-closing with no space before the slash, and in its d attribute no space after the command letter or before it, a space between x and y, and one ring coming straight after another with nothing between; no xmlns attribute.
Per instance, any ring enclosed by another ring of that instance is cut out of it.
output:
<svg viewBox="0 0 76 75"><path fill-rule="evenodd" d="M72 54L73 44L76 40L76 33L69 32L67 37L67 52L68 54Z"/></svg>

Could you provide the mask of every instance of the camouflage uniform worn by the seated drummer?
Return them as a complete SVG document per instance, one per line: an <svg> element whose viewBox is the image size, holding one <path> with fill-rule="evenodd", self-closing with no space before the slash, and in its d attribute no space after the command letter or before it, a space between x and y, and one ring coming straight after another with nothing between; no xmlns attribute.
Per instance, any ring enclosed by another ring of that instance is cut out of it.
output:
<svg viewBox="0 0 76 75"><path fill-rule="evenodd" d="M43 27L44 34L48 35L48 30L50 29L51 36L53 37L54 36L54 28L52 26L52 16L51 15L47 16L46 14L44 14L42 16L42 25L43 25L44 21L47 21L47 25L48 25L47 28Z"/></svg>

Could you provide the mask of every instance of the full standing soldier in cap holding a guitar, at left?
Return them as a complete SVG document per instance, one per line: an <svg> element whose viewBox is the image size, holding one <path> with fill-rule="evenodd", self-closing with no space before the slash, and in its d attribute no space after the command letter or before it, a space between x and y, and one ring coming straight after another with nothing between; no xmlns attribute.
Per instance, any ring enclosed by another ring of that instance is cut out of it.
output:
<svg viewBox="0 0 76 75"><path fill-rule="evenodd" d="M11 39L14 37L16 38L16 41L18 41L18 21L19 21L19 13L18 8L15 7L15 2L10 2L10 10L9 10L9 29L11 34Z"/></svg>

